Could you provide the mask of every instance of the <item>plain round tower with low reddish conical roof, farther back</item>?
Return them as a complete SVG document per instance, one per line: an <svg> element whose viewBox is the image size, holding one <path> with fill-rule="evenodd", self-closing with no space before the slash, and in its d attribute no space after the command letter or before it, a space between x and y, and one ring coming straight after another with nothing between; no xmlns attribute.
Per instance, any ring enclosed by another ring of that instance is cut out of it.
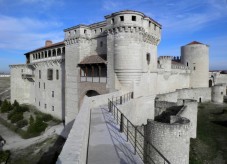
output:
<svg viewBox="0 0 227 164"><path fill-rule="evenodd" d="M209 46L193 41L181 47L181 62L191 71L190 87L208 87Z"/></svg>

